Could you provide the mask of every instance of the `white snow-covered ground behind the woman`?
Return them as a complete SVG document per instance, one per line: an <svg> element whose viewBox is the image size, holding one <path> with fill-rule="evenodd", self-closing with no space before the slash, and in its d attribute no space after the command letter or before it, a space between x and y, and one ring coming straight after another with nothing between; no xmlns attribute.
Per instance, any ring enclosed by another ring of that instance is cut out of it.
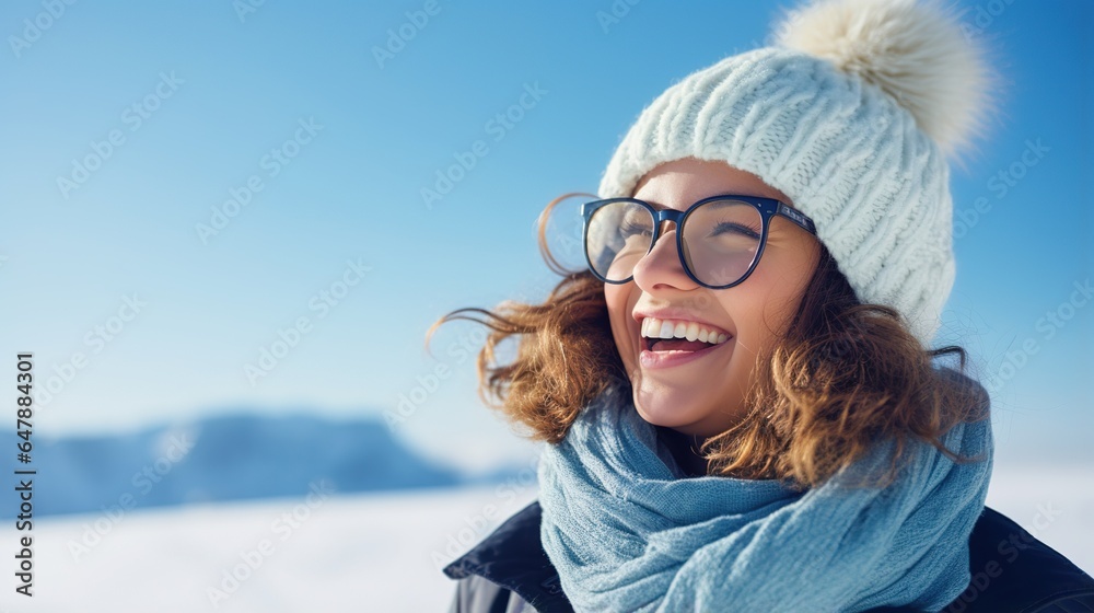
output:
<svg viewBox="0 0 1094 613"><path fill-rule="evenodd" d="M0 613L445 611L440 567L536 495L534 484L46 517L34 592L13 595L0 529ZM997 470L989 506L1094 569L1094 472Z"/></svg>

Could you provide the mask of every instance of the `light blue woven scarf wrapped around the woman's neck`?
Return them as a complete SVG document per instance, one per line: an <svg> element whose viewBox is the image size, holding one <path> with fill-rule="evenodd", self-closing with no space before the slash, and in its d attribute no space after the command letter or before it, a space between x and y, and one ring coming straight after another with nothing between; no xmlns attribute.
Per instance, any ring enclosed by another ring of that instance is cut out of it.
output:
<svg viewBox="0 0 1094 613"><path fill-rule="evenodd" d="M540 540L579 612L938 611L970 579L990 421L958 425L943 442L986 460L956 464L915 443L888 487L840 487L886 467L886 443L806 491L683 478L630 394L609 388L544 449Z"/></svg>

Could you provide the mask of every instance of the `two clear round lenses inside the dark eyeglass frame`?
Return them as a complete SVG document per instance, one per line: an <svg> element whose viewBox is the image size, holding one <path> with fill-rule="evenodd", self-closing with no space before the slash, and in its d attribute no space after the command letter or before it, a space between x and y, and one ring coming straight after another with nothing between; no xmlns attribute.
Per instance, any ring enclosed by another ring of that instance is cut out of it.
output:
<svg viewBox="0 0 1094 613"><path fill-rule="evenodd" d="M740 280L759 251L764 218L740 200L713 200L682 220L684 262L699 281L726 286ZM653 241L654 218L637 203L605 205L592 215L585 250L593 270L609 281L626 281ZM679 231L679 229L677 229ZM675 236L666 234L660 240Z"/></svg>

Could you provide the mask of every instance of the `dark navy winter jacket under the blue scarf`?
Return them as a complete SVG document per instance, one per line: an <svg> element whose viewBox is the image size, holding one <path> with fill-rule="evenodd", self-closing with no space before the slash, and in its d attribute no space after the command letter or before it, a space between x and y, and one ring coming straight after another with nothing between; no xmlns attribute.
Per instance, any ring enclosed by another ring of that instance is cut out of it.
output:
<svg viewBox="0 0 1094 613"><path fill-rule="evenodd" d="M450 613L573 611L539 543L539 517L532 502L444 568L459 580ZM969 550L971 582L947 613L1094 612L1094 579L998 511L984 508Z"/></svg>

